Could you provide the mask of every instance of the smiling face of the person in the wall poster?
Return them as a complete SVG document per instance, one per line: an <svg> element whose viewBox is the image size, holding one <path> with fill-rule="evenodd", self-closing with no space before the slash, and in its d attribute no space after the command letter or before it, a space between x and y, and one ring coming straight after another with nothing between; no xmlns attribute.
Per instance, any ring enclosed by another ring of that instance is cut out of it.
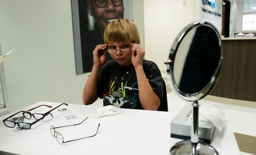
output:
<svg viewBox="0 0 256 155"><path fill-rule="evenodd" d="M123 18L123 2L119 6L115 6L111 0L107 0L105 7L99 7L94 0L89 1L90 15L94 16L95 22L102 33L113 19Z"/></svg>

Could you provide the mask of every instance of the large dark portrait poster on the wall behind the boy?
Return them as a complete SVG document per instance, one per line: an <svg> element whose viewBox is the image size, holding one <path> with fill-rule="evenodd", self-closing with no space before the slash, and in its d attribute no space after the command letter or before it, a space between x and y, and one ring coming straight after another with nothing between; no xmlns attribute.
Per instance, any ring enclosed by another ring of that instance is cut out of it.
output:
<svg viewBox="0 0 256 155"><path fill-rule="evenodd" d="M71 0L76 74L91 72L93 50L104 44L104 30L116 18L133 20L133 0ZM111 60L107 54L107 60Z"/></svg>

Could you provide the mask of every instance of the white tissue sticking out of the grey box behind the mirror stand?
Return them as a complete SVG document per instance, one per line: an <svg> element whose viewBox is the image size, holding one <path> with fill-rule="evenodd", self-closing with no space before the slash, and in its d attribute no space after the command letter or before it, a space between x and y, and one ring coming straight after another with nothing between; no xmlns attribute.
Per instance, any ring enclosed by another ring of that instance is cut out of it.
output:
<svg viewBox="0 0 256 155"><path fill-rule="evenodd" d="M220 131L224 125L226 106L223 103L206 102L199 107L199 121L212 122Z"/></svg>

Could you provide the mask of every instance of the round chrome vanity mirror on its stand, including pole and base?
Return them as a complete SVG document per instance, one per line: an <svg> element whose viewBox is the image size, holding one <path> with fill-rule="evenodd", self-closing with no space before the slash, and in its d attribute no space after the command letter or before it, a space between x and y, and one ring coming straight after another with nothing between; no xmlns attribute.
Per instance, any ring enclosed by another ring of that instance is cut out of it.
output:
<svg viewBox="0 0 256 155"><path fill-rule="evenodd" d="M187 25L172 44L169 59L165 61L169 83L176 94L193 103L191 140L175 144L170 150L171 154L183 152L183 149L187 152L187 147L191 148L189 154L218 154L206 143L198 142L198 100L209 94L215 86L221 61L221 38L218 30L209 22L199 21ZM211 148L210 152L208 148Z"/></svg>

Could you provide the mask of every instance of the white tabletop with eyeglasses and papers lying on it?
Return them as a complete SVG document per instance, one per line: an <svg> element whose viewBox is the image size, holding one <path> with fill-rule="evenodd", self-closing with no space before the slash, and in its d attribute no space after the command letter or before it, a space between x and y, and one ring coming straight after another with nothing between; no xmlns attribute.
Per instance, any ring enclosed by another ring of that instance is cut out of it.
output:
<svg viewBox="0 0 256 155"><path fill-rule="evenodd" d="M59 105L59 103L38 102L21 110L28 110L41 104L52 105L53 107ZM116 110L121 112L119 115L98 118L97 109L99 107L76 104L69 104L69 106L81 113L84 118L87 116L89 118L85 121L85 124L64 128L62 130L63 135L65 135L64 138L83 137L87 132L84 130L86 126L91 125L95 128L100 123L96 136L65 143L64 145L60 145L56 138L51 136L50 127L9 136L7 127L3 124L3 119L15 113L13 112L0 117L0 154L9 152L21 155L169 155L171 146L181 141L170 137L170 122L177 115L177 112L118 108ZM222 131L215 130L211 145L220 155L239 155L238 145L229 121L228 119L225 121ZM68 122L60 126L78 122L81 122L81 120Z"/></svg>

